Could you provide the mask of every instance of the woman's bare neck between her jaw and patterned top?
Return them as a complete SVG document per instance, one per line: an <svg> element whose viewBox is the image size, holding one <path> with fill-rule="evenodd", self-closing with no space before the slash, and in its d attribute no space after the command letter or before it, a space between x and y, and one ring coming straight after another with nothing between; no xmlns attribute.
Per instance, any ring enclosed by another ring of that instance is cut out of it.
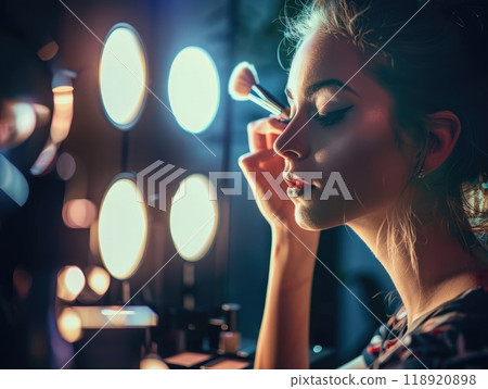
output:
<svg viewBox="0 0 488 389"><path fill-rule="evenodd" d="M422 224L416 230L415 269L409 253L399 251L395 256L388 253L387 233L381 228L382 219L370 215L352 221L348 226L369 246L389 274L407 309L409 325L422 314L478 285L479 261L462 249L442 223Z"/></svg>

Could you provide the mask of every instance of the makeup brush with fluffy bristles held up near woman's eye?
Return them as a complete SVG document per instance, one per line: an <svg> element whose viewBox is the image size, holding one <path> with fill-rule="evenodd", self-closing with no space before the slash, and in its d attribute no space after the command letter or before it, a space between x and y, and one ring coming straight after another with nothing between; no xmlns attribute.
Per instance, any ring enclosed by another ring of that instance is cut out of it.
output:
<svg viewBox="0 0 488 389"><path fill-rule="evenodd" d="M262 86L256 68L248 62L237 64L229 78L229 95L237 101L251 100L273 115L281 115L285 106Z"/></svg>

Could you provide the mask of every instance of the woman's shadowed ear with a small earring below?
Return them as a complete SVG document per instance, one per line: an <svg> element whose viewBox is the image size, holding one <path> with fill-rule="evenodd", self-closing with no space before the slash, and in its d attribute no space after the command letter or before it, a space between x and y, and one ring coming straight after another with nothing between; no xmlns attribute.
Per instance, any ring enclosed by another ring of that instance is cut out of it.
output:
<svg viewBox="0 0 488 389"><path fill-rule="evenodd" d="M461 122L451 111L438 111L427 117L429 134L423 165L425 174L434 172L448 159L461 133Z"/></svg>

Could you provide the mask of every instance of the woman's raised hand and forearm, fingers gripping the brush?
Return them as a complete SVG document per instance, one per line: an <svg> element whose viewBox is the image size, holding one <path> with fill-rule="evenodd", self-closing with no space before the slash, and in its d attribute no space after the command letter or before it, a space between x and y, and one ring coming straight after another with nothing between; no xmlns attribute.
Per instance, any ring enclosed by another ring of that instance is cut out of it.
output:
<svg viewBox="0 0 488 389"><path fill-rule="evenodd" d="M278 118L249 123L251 152L239 161L272 229L268 290L255 368L309 367L310 290L319 231L297 225L295 205L285 196L286 184L281 177L285 162L273 150L274 140L285 127L286 123ZM272 180L280 186L273 188Z"/></svg>

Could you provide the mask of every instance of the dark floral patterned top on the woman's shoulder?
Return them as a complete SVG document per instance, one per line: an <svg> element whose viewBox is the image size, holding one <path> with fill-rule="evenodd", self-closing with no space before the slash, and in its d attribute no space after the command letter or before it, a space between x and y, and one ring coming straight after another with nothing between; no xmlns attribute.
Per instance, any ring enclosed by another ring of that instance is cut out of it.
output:
<svg viewBox="0 0 488 389"><path fill-rule="evenodd" d="M369 368L488 368L488 287L470 289L407 328L400 308L362 355Z"/></svg>

